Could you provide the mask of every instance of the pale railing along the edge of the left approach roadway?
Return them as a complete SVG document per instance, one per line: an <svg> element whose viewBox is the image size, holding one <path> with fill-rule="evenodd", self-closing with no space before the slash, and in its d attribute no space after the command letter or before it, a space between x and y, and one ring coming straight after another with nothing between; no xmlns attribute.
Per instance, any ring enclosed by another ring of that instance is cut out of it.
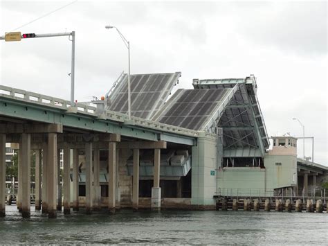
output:
<svg viewBox="0 0 328 246"><path fill-rule="evenodd" d="M71 105L71 102L68 100L45 96L35 92L24 91L22 89L7 87L4 85L0 85L0 97L21 100L28 103L34 103L36 105L55 107L56 109L63 109L64 111L68 111L71 107L75 107L76 113L87 114L89 116L94 116L95 118L100 118L103 120L118 121L127 125L136 125L142 128L152 128L153 130L181 134L188 137L199 137L199 132L195 130L179 128L174 125L167 125L134 116L131 116L131 120L129 120L127 114L120 114L118 112L109 110L106 110L102 114L98 114L96 113L96 107L90 105L85 105L83 103L75 103L75 105ZM206 135L212 134L206 133Z"/></svg>

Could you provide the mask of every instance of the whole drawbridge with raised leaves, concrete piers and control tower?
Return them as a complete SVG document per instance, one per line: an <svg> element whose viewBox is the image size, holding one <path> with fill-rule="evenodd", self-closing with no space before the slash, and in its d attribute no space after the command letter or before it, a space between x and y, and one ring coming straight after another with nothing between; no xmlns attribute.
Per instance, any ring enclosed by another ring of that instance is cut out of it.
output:
<svg viewBox="0 0 328 246"><path fill-rule="evenodd" d="M18 143L17 207L35 209L215 209L225 195L308 193L327 168L297 158L297 139L269 137L253 75L194 79L181 73L127 74L104 100L76 103L0 86L0 216L6 214L6 143ZM62 155L62 166L60 161ZM318 177L318 179L317 179Z"/></svg>

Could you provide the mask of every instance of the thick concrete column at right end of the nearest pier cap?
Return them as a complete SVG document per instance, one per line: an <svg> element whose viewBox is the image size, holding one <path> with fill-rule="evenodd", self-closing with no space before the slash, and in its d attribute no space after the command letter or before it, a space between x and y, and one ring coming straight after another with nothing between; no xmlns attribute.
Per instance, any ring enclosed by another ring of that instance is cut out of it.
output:
<svg viewBox="0 0 328 246"><path fill-rule="evenodd" d="M48 133L47 157L48 218L57 218L57 133Z"/></svg>

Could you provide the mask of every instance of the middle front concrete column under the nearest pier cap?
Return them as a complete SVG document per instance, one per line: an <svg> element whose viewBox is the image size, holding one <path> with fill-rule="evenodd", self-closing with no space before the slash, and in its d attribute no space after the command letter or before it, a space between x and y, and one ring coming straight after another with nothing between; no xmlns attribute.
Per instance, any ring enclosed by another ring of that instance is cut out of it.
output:
<svg viewBox="0 0 328 246"><path fill-rule="evenodd" d="M30 134L21 134L21 213L23 218L30 218Z"/></svg>

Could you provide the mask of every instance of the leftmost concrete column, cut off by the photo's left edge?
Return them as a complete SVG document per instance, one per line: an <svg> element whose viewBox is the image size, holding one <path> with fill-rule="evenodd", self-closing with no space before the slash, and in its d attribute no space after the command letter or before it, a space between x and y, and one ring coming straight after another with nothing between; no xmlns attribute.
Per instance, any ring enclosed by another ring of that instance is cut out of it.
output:
<svg viewBox="0 0 328 246"><path fill-rule="evenodd" d="M6 134L0 134L0 217L6 216Z"/></svg>

